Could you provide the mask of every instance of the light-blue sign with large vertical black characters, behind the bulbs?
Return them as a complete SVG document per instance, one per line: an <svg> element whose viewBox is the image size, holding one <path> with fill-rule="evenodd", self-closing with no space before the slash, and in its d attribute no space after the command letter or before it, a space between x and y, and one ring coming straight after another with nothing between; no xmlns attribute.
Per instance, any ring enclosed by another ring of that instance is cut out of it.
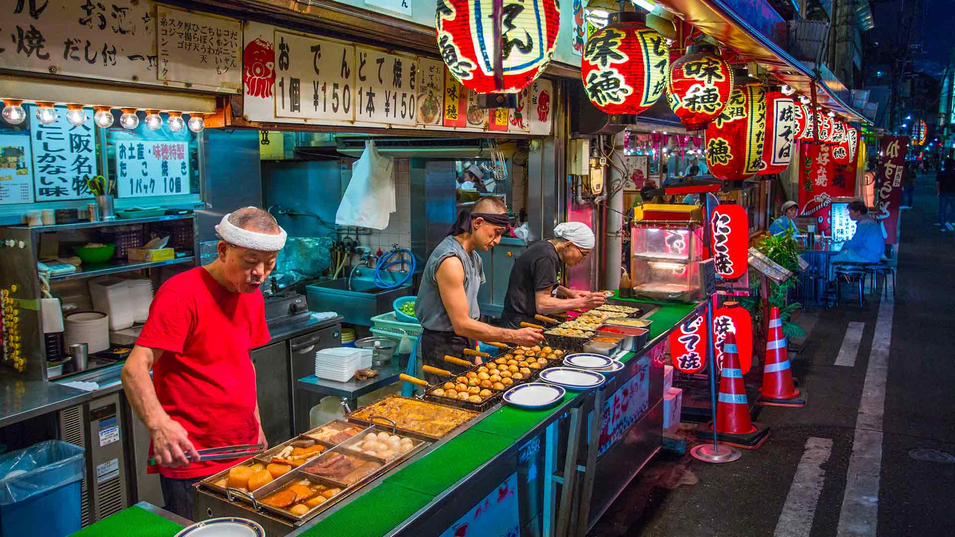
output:
<svg viewBox="0 0 955 537"><path fill-rule="evenodd" d="M52 125L44 125L30 107L31 152L33 154L33 186L37 202L82 200L92 198L83 176L96 175L96 140L93 114L74 127L66 120L66 112L57 109Z"/></svg>

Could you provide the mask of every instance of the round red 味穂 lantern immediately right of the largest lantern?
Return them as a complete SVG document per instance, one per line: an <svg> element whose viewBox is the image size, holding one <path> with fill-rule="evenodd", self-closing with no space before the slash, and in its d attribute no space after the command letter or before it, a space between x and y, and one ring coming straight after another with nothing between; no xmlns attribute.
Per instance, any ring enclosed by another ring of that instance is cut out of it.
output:
<svg viewBox="0 0 955 537"><path fill-rule="evenodd" d="M635 11L611 13L609 24L587 39L581 61L584 91L610 115L647 110L667 87L669 47Z"/></svg>

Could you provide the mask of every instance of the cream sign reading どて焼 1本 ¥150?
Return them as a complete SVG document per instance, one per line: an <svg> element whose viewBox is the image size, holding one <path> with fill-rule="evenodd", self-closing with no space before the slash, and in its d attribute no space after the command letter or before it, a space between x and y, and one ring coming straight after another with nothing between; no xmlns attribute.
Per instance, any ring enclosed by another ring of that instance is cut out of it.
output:
<svg viewBox="0 0 955 537"><path fill-rule="evenodd" d="M358 87L355 120L414 127L417 124L417 58L355 47Z"/></svg>

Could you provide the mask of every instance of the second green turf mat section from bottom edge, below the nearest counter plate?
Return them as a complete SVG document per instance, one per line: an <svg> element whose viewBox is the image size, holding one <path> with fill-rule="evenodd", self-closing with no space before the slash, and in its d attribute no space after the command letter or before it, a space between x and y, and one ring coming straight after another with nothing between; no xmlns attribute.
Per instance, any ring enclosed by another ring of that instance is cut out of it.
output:
<svg viewBox="0 0 955 537"><path fill-rule="evenodd" d="M489 418L483 419L486 421ZM541 417L538 416L538 420ZM477 425L476 425L477 426ZM437 496L452 484L490 461L507 449L514 440L497 434L478 431L475 427L454 440L395 473L385 483L400 485L418 492Z"/></svg>

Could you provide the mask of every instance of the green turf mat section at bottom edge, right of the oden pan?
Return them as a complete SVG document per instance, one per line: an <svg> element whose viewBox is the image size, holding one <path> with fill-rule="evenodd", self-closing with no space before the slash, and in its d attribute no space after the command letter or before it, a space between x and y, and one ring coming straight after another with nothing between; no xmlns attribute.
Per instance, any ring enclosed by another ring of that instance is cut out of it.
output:
<svg viewBox="0 0 955 537"><path fill-rule="evenodd" d="M434 496L390 484L379 483L361 497L311 526L303 537L381 537L428 505Z"/></svg>

